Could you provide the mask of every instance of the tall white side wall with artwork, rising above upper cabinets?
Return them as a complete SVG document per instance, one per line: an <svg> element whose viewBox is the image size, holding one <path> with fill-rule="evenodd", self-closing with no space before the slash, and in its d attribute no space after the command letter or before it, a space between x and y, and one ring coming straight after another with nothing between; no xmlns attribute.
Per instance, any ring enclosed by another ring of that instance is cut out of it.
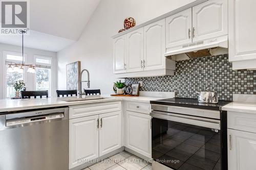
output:
<svg viewBox="0 0 256 170"><path fill-rule="evenodd" d="M79 40L57 53L58 89L66 89L66 64L81 61L81 69L91 74L91 89L113 93L112 38L123 28L125 17L139 25L195 0L102 0ZM83 88L86 84L82 85Z"/></svg>

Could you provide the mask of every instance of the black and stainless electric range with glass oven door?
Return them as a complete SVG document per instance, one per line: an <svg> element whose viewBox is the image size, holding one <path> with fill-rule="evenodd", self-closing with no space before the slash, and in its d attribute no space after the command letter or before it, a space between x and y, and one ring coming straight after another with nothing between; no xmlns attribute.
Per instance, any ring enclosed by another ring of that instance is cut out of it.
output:
<svg viewBox="0 0 256 170"><path fill-rule="evenodd" d="M152 169L227 170L227 115L197 99L151 101Z"/></svg>

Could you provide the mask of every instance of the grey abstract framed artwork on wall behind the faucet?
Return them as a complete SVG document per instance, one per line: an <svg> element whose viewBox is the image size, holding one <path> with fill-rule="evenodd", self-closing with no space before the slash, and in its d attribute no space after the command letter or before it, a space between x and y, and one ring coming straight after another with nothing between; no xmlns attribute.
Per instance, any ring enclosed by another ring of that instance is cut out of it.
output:
<svg viewBox="0 0 256 170"><path fill-rule="evenodd" d="M78 90L80 72L80 61L66 65L67 90Z"/></svg>

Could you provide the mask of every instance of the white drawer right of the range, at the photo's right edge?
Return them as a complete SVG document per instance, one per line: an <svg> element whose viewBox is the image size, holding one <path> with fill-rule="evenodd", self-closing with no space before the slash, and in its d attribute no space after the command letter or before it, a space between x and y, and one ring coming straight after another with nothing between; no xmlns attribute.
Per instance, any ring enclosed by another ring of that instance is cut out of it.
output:
<svg viewBox="0 0 256 170"><path fill-rule="evenodd" d="M228 111L227 127L256 133L256 114Z"/></svg>

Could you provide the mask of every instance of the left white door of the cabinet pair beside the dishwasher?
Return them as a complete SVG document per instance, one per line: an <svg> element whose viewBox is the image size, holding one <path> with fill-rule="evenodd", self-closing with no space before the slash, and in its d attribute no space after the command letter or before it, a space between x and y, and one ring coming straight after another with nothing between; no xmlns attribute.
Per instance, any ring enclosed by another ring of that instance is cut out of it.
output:
<svg viewBox="0 0 256 170"><path fill-rule="evenodd" d="M69 120L69 167L99 157L98 115ZM81 160L81 161L79 161Z"/></svg>

